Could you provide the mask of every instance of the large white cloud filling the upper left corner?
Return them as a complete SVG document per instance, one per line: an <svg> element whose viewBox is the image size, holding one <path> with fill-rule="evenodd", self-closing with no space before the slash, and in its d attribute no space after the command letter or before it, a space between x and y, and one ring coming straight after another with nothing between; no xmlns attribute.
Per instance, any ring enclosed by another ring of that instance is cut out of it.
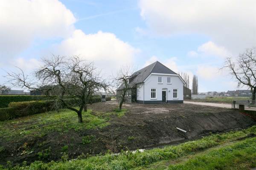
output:
<svg viewBox="0 0 256 170"><path fill-rule="evenodd" d="M1 0L0 57L14 57L37 38L67 37L75 22L58 0Z"/></svg>

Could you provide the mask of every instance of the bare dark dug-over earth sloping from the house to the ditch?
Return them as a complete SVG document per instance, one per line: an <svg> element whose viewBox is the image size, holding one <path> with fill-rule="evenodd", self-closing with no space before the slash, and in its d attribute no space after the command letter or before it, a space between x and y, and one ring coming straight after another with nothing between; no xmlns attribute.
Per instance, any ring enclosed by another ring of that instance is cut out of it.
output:
<svg viewBox="0 0 256 170"><path fill-rule="evenodd" d="M118 107L114 101L99 102L88 105L93 111L111 112ZM166 144L177 144L186 140L198 139L209 133L221 133L229 130L238 130L255 125L255 120L249 116L239 113L237 110L216 108L192 104L138 104L125 103L123 108L128 111L122 117L111 116L110 125L93 130L76 132L70 130L68 135L59 133L48 134L42 139L46 142L44 148L51 147L50 160L61 159L60 149L64 144L69 143L69 158L76 158L81 153L95 155L110 150L118 153L121 150L136 150L143 148L159 147ZM179 127L188 131L183 133L176 129ZM80 144L81 136L94 135L96 140L84 146ZM72 140L71 140L72 139ZM29 139L28 139L29 140ZM32 147L38 148L34 141ZM52 142L51 142L52 141ZM55 141L55 142L54 142ZM58 142L56 142L58 141ZM23 141L24 142L24 141ZM29 142L29 141L28 141ZM10 160L14 164L23 161L31 163L38 160L37 155L14 157L11 152L6 151L1 157L0 164L6 164ZM37 152L35 152L37 153Z"/></svg>

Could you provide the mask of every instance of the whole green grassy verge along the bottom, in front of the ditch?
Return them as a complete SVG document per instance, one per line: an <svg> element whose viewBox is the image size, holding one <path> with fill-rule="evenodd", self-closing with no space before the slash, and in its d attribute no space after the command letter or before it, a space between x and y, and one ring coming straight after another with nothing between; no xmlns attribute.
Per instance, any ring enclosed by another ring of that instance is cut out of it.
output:
<svg viewBox="0 0 256 170"><path fill-rule="evenodd" d="M242 166L253 167L255 163L256 153L256 126L247 130L229 132L223 134L215 134L204 137L202 139L186 142L176 146L167 146L164 148L156 148L145 150L143 153L137 151L122 152L118 155L106 154L104 156L92 156L87 159L78 159L70 161L51 161L43 163L35 161L30 166L15 167L15 170L127 170L127 169L145 169L161 161L172 161L183 156L193 155L202 150L220 146L219 150L212 150L205 155L195 157L189 161L178 165L171 165L169 168L173 170L183 170L183 167L191 167L198 170L214 169L219 170L232 169L231 167ZM248 138L248 139L247 139ZM234 142L235 144L231 144ZM230 145L230 146L228 146ZM241 152L241 154L239 154ZM246 154L252 154L246 156ZM223 158L223 159L221 159ZM242 159L241 161L239 159ZM218 162L217 163L215 163ZM229 161L234 163L230 163ZM209 165L208 165L209 164ZM218 165L218 167L217 167ZM180 166L180 167L179 167ZM230 166L230 168L229 168ZM206 167L206 168L204 168ZM176 168L176 169L175 169Z"/></svg>

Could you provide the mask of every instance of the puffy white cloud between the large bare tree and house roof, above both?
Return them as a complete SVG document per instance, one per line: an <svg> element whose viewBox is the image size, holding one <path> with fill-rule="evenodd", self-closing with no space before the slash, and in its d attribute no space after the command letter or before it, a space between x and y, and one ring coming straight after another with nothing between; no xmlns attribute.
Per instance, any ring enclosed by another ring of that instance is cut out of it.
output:
<svg viewBox="0 0 256 170"><path fill-rule="evenodd" d="M75 30L72 36L52 47L55 54L79 57L93 61L103 73L115 73L122 65L132 65L134 55L139 50L119 40L115 34L99 31L96 34L84 34Z"/></svg>

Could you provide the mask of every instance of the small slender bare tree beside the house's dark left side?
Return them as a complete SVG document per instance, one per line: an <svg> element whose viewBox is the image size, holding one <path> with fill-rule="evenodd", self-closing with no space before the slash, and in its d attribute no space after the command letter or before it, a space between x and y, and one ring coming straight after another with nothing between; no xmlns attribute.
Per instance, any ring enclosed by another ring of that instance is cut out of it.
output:
<svg viewBox="0 0 256 170"><path fill-rule="evenodd" d="M122 109L122 104L125 102L126 98L131 99L131 94L128 94L128 92L131 93L131 89L133 87L132 84L129 83L132 76L133 72L131 71L131 68L126 66L120 68L120 70L116 73L116 77L114 78L114 82L117 87L116 99L119 102L119 110Z"/></svg>

